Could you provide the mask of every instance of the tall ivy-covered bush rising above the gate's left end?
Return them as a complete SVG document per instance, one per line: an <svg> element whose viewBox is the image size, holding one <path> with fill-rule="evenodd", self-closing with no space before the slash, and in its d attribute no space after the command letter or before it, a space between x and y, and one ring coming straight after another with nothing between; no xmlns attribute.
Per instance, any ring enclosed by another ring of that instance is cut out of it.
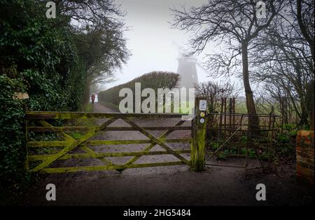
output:
<svg viewBox="0 0 315 220"><path fill-rule="evenodd" d="M37 1L15 0L1 8L10 16L0 15L0 67L15 65L17 71L7 75L25 79L29 109L78 109L85 75L71 34L45 18L45 7Z"/></svg>

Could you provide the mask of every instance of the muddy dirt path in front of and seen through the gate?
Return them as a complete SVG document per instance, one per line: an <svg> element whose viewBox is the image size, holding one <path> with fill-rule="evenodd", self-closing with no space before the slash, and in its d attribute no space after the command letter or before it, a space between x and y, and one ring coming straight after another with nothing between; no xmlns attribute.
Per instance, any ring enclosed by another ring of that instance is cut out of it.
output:
<svg viewBox="0 0 315 220"><path fill-rule="evenodd" d="M98 103L94 111L112 111ZM175 125L179 119L134 120L144 125ZM104 120L98 120L102 123ZM118 120L111 126L125 126ZM127 126L127 125L126 125ZM155 137L163 131L152 132ZM169 138L189 137L189 131L178 131ZM95 139L146 139L137 131L101 132ZM94 146L98 152L140 151L148 144L125 146ZM189 149L186 144L169 144L173 149ZM162 150L155 146L154 150ZM189 155L186 155L189 158ZM113 163L124 163L130 157L109 158ZM146 156L137 163L177 160L174 156ZM230 159L227 164L239 165L241 159ZM250 161L256 165L256 160ZM89 160L85 165L103 165L100 160ZM274 173L245 173L242 169L207 167L204 172L193 172L187 165L129 169L122 173L80 172L49 174L27 196L27 205L303 205L314 202L314 191L297 183L295 165L281 167L280 176ZM55 184L57 201L45 200L46 184ZM255 200L256 184L267 187L267 201Z"/></svg>

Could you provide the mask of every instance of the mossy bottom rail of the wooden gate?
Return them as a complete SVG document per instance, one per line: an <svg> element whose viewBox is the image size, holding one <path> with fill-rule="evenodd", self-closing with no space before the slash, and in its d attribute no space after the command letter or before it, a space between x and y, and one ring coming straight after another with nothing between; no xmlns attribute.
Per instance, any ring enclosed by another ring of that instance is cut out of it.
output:
<svg viewBox="0 0 315 220"><path fill-rule="evenodd" d="M58 168L44 168L40 173L60 173L60 172L80 172L80 171L102 171L102 170L125 170L128 168L141 167L165 167L183 165L182 161L166 162L166 163L139 163L131 165L106 165L106 166L83 166L83 167L58 167Z"/></svg>

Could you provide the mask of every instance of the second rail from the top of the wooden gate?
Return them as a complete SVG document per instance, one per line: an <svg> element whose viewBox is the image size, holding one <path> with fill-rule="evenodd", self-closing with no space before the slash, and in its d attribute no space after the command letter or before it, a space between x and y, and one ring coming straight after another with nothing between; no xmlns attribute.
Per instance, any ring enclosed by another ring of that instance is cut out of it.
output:
<svg viewBox="0 0 315 220"><path fill-rule="evenodd" d="M64 132L73 130L91 130L97 127L92 126L65 126L65 127L28 127L31 132ZM142 127L145 130L191 130L191 126L177 126L177 127ZM107 127L106 131L125 131L125 130L136 130L132 127Z"/></svg>

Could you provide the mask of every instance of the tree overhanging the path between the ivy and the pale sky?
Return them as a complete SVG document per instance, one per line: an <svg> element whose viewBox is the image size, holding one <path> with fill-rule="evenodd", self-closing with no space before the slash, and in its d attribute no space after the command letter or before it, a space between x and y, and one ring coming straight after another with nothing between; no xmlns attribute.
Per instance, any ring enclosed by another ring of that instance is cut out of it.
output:
<svg viewBox="0 0 315 220"><path fill-rule="evenodd" d="M124 11L114 0L56 0L55 25L73 33L86 72L83 104L90 100L90 85L113 81L114 70L130 56L123 32Z"/></svg>

